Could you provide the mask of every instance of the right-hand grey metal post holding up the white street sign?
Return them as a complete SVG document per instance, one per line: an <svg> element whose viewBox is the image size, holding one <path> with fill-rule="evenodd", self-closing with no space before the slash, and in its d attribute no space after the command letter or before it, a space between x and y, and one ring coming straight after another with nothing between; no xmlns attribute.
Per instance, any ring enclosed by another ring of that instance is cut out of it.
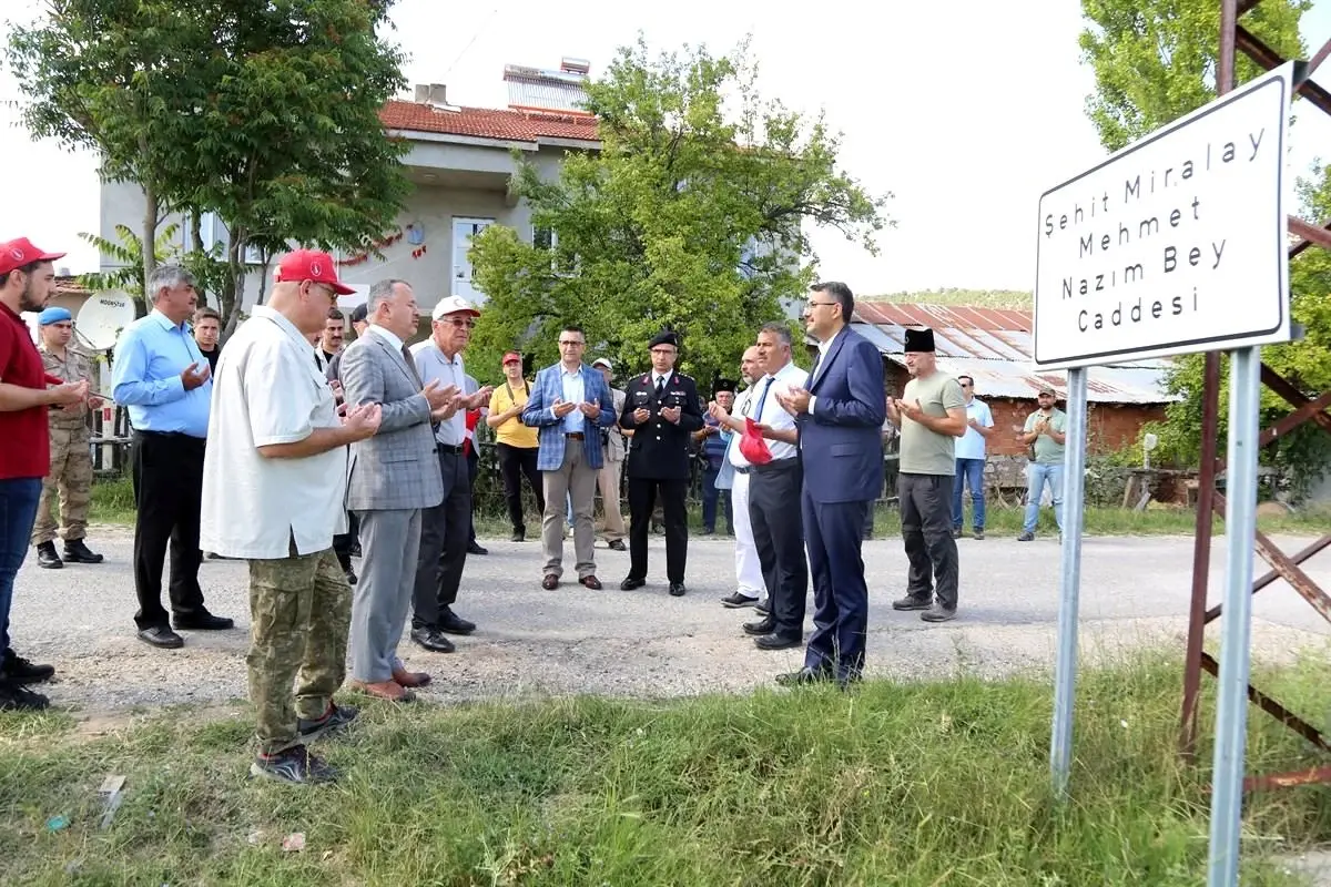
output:
<svg viewBox="0 0 1331 887"><path fill-rule="evenodd" d="M1209 887L1231 887L1239 879L1260 387L1262 348L1235 351L1230 356L1230 448L1225 481L1226 620L1221 637L1219 698L1215 710Z"/></svg>

